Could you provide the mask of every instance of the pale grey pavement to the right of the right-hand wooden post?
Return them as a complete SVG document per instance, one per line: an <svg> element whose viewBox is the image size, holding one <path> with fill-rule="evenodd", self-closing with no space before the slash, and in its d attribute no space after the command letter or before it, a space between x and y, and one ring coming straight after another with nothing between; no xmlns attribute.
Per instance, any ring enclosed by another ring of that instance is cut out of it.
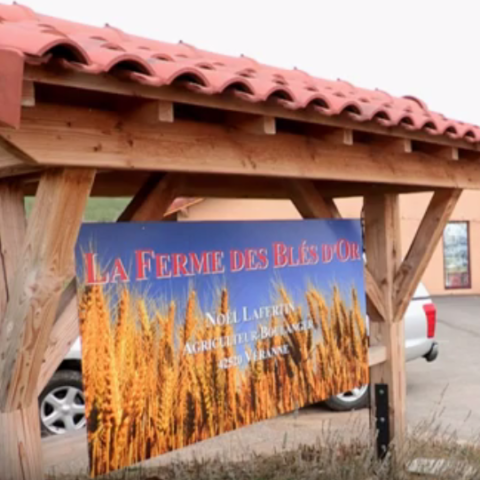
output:
<svg viewBox="0 0 480 480"><path fill-rule="evenodd" d="M407 366L409 425L432 415L461 437L480 434L480 297L436 298L440 355Z"/></svg>

